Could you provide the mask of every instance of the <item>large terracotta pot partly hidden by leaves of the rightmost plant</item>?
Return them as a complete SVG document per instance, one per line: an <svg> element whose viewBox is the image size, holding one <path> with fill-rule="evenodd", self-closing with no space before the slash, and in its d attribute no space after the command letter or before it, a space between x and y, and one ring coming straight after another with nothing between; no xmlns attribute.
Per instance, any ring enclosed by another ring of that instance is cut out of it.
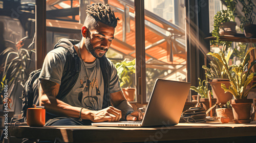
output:
<svg viewBox="0 0 256 143"><path fill-rule="evenodd" d="M229 79L213 79L209 81L212 87L212 96L217 99L217 104L227 104L232 99L233 95L230 92L226 92L221 88L221 84L225 84L226 87L230 86Z"/></svg>

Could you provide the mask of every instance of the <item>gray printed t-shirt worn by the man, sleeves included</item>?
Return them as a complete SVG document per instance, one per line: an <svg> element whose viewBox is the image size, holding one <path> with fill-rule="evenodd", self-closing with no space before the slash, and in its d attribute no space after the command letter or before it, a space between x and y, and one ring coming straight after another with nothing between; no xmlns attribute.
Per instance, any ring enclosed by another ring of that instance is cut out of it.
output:
<svg viewBox="0 0 256 143"><path fill-rule="evenodd" d="M58 47L50 51L42 65L39 79L50 80L61 85L63 68L66 63L67 50ZM90 110L101 110L103 104L104 84L100 69L99 59L88 64L81 59L81 71L79 77L69 92L61 101L76 107L84 107ZM109 60L112 67L110 80L110 93L121 91L117 70L114 64ZM84 63L84 65L82 64ZM87 73L87 74L86 74ZM87 78L87 75L89 78Z"/></svg>

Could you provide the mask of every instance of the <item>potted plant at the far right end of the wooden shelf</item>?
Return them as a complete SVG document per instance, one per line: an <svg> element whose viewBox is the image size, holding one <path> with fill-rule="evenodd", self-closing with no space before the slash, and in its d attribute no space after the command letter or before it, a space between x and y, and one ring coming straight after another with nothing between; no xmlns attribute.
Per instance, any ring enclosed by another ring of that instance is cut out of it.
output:
<svg viewBox="0 0 256 143"><path fill-rule="evenodd" d="M244 35L245 37L256 37L256 25L253 25L253 21L255 16L253 16L253 1L252 0L239 0L242 5L243 9L242 12L244 12L244 17L241 17L241 25L240 28L244 29Z"/></svg>

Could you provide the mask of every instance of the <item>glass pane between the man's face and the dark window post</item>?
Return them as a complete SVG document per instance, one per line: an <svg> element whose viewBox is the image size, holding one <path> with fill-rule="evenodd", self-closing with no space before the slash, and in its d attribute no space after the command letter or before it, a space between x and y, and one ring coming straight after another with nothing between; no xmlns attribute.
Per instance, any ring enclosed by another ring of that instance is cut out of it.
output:
<svg viewBox="0 0 256 143"><path fill-rule="evenodd" d="M120 86L123 93L126 94L126 87L136 88L134 3L109 0L108 4L120 20L115 29L115 39L112 41L106 56L116 65ZM116 54L113 55L112 53ZM124 74L126 71L128 72ZM132 98L131 101L135 101L135 99Z"/></svg>

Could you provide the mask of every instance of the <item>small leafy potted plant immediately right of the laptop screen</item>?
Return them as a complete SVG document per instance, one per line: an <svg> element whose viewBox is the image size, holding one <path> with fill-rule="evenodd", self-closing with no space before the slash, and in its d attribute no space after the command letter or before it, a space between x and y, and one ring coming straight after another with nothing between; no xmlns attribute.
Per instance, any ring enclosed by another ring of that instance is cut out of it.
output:
<svg viewBox="0 0 256 143"><path fill-rule="evenodd" d="M208 82L207 79L201 81L200 78L198 78L198 87L196 86L191 86L190 87L191 90L194 90L196 92L198 92L199 96L201 96L200 98L200 103L202 103L203 107L205 108L205 110L207 111L210 108L210 101L209 101L209 97L208 97ZM211 92L209 93L211 96ZM199 98L199 96L196 96L197 98ZM215 103L217 102L217 99L211 98L211 105L215 105ZM212 109L215 111L215 107L214 109ZM207 116L209 116L210 113L207 113Z"/></svg>

